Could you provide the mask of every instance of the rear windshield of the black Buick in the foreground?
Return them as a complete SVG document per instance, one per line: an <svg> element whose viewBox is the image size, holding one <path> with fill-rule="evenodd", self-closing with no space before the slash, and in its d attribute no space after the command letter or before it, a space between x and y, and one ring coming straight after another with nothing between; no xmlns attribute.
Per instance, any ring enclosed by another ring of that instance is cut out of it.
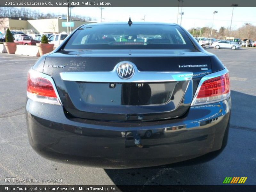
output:
<svg viewBox="0 0 256 192"><path fill-rule="evenodd" d="M195 49L179 27L159 24L84 25L65 45L68 49Z"/></svg>

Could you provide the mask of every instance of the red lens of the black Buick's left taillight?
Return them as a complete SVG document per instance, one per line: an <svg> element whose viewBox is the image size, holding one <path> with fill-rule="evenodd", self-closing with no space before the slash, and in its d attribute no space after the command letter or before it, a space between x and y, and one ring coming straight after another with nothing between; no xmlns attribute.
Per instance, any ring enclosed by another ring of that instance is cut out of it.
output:
<svg viewBox="0 0 256 192"><path fill-rule="evenodd" d="M28 74L27 91L39 96L57 98L52 83L49 80L42 77L30 76L30 74Z"/></svg>

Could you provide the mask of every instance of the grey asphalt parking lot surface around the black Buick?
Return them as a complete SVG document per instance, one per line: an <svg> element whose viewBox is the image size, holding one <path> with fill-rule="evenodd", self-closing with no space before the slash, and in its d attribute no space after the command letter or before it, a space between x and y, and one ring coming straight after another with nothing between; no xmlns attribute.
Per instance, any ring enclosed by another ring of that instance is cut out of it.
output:
<svg viewBox="0 0 256 192"><path fill-rule="evenodd" d="M248 177L245 185L256 185L256 49L206 50L216 54L230 73L227 147L203 164L129 170L61 164L33 151L28 143L25 101L27 72L38 58L0 53L0 185L30 184L6 183L7 177L62 179L62 183L36 183L40 185L221 185L226 177Z"/></svg>

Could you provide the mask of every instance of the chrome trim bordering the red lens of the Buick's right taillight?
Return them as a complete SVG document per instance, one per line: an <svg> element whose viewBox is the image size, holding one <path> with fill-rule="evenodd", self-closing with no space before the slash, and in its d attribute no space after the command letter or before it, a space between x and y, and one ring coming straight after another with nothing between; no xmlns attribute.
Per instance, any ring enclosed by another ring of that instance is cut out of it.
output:
<svg viewBox="0 0 256 192"><path fill-rule="evenodd" d="M226 73L228 73L228 69L227 68L224 68L223 70L221 71L217 71L215 73L211 73L209 75L205 75L201 78L198 86L197 86L197 89L196 89L196 93L195 93L195 96L192 100L192 103L191 103L191 106L196 106L196 105L205 105L205 104L209 104L209 103L216 103L216 102L219 102L219 101L222 101L222 100L225 100L227 99L229 96L230 96L230 92L229 94L227 94L227 96L225 98L222 98L220 100L214 100L212 102L207 102L207 103L198 103L198 104L195 104L196 103L196 97L198 95L198 92L202 86L202 84L204 83L204 81L208 80L208 79L211 79L211 78L215 78L215 77L218 77L218 76L221 76L221 75L225 75Z"/></svg>

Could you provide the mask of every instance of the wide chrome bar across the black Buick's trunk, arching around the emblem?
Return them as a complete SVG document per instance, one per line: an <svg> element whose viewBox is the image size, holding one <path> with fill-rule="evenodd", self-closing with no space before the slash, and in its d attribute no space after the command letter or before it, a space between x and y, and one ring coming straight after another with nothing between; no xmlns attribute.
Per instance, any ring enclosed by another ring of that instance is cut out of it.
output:
<svg viewBox="0 0 256 192"><path fill-rule="evenodd" d="M121 79L116 72L122 63L129 63L134 67L134 75L130 79ZM171 82L187 81L193 77L192 72L156 72L139 71L132 62L122 61L117 63L112 71L99 72L62 72L60 77L63 81L97 82L97 83L144 83L144 82Z"/></svg>

